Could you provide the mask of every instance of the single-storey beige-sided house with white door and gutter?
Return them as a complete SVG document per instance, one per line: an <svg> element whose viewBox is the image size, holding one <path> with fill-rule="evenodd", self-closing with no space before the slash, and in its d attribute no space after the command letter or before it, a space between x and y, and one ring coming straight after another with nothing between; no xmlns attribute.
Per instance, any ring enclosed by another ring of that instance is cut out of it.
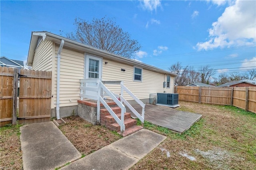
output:
<svg viewBox="0 0 256 170"><path fill-rule="evenodd" d="M81 79L122 81L144 103L150 94L174 92L176 74L46 31L32 32L27 64L33 70L52 71L52 116L56 107L60 117L76 113ZM120 87L106 87L120 94ZM133 100L126 93L124 98Z"/></svg>

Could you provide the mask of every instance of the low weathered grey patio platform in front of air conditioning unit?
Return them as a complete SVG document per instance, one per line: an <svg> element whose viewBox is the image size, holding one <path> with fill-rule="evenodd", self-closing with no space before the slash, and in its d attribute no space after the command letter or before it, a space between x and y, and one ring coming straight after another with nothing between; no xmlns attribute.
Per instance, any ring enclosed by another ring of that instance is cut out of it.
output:
<svg viewBox="0 0 256 170"><path fill-rule="evenodd" d="M132 107L138 113L142 112L140 105L134 104ZM127 107L126 111L129 112L130 109ZM136 116L132 113L132 117ZM198 113L178 111L171 107L146 104L144 119L155 125L166 127L175 133L184 133L201 117L202 115Z"/></svg>

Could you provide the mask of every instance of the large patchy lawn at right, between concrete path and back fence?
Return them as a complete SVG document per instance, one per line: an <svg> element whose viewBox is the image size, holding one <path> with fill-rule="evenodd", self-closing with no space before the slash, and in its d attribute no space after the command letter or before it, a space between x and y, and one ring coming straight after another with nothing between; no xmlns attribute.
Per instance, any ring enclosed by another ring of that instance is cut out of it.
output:
<svg viewBox="0 0 256 170"><path fill-rule="evenodd" d="M246 169L256 167L256 114L233 106L180 102L178 110L202 114L184 134L144 123L167 139L136 169Z"/></svg>

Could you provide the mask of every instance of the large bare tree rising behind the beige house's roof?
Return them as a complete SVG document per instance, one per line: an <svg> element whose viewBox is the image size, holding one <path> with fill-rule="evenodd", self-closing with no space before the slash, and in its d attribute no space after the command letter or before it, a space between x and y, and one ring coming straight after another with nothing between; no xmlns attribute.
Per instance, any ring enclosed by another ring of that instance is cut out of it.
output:
<svg viewBox="0 0 256 170"><path fill-rule="evenodd" d="M76 18L76 31L67 37L86 45L106 50L116 55L131 58L141 46L137 40L131 39L128 32L124 32L110 19L93 19L91 22Z"/></svg>

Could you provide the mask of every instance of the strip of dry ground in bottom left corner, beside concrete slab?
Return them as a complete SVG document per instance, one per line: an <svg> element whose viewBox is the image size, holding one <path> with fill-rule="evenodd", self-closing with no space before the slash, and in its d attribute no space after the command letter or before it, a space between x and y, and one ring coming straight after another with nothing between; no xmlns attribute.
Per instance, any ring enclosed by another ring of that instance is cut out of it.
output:
<svg viewBox="0 0 256 170"><path fill-rule="evenodd" d="M20 128L1 127L0 131L0 169L22 168L22 151L20 144Z"/></svg>

